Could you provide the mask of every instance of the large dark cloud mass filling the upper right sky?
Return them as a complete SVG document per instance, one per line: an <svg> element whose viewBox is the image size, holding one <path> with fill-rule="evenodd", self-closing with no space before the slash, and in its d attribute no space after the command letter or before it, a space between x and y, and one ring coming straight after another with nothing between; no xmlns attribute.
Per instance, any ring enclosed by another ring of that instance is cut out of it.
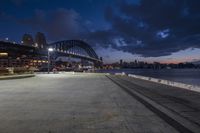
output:
<svg viewBox="0 0 200 133"><path fill-rule="evenodd" d="M141 0L139 4L121 1L117 9L106 9L105 18L112 25L110 30L127 44L115 48L157 57L200 48L199 7L197 0Z"/></svg>

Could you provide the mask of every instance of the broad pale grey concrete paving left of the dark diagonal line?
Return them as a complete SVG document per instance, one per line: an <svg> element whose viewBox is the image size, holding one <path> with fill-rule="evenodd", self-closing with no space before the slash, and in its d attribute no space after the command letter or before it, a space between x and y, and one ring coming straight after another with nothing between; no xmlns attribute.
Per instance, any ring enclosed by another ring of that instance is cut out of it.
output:
<svg viewBox="0 0 200 133"><path fill-rule="evenodd" d="M176 133L100 74L0 81L0 133Z"/></svg>

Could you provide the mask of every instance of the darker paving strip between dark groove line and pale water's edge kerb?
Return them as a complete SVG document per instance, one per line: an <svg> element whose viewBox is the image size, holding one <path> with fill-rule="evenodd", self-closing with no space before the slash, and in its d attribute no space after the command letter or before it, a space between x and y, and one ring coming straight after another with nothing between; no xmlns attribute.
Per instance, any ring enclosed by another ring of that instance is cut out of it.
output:
<svg viewBox="0 0 200 133"><path fill-rule="evenodd" d="M184 118L200 132L200 93L127 76L111 77L130 91L138 92Z"/></svg>

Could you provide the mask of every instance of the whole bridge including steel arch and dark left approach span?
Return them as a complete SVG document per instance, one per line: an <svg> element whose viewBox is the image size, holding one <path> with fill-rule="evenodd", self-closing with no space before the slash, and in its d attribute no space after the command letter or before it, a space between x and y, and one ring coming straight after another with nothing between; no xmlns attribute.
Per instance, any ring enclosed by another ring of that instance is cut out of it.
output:
<svg viewBox="0 0 200 133"><path fill-rule="evenodd" d="M47 48L49 47L54 49L51 53L53 59L62 56L90 61L96 66L102 64L102 60L99 59L94 49L81 40L58 41L48 44L45 48L0 41L0 53L7 53L9 57L14 58L21 57L22 55L26 55L28 58L47 57Z"/></svg>

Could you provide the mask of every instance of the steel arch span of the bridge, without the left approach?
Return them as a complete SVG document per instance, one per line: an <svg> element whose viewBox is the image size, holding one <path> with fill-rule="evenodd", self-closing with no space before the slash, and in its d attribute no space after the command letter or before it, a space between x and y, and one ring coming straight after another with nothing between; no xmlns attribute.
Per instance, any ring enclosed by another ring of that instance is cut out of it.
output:
<svg viewBox="0 0 200 133"><path fill-rule="evenodd" d="M95 63L102 61L97 56L92 47L81 40L64 40L54 42L48 45L54 49L55 56L70 56L80 59L89 60Z"/></svg>

